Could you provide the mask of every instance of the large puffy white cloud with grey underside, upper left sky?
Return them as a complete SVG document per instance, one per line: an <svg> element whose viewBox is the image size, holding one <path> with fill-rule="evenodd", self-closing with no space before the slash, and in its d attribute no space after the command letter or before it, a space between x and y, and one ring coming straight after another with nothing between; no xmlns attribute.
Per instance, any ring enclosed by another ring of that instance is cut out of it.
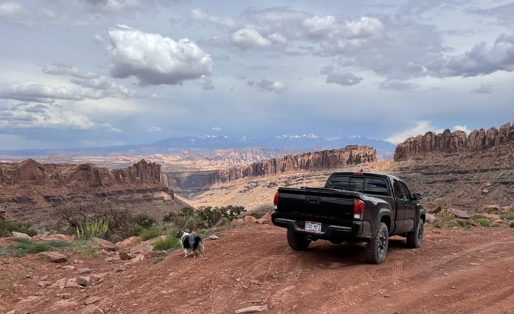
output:
<svg viewBox="0 0 514 314"><path fill-rule="evenodd" d="M212 71L212 58L188 38L178 42L127 26L108 31L111 75L139 85L177 85Z"/></svg>

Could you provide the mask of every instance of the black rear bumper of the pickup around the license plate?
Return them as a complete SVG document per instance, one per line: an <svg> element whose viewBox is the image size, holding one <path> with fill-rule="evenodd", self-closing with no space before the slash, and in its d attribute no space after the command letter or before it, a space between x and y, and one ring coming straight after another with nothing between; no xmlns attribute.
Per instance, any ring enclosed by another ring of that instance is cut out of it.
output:
<svg viewBox="0 0 514 314"><path fill-rule="evenodd" d="M297 220L277 218L275 212L271 213L271 222L275 226L310 235L313 240L321 239L343 242L362 241L371 238L371 224L366 221L354 221L352 222L352 226L328 225L324 228L324 232L305 231L305 229L298 224Z"/></svg>

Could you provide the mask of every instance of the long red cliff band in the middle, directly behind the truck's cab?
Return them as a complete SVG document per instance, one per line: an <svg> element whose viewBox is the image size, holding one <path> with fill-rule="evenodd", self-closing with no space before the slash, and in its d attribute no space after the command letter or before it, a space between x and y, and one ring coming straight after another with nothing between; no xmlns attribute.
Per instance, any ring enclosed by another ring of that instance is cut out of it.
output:
<svg viewBox="0 0 514 314"><path fill-rule="evenodd" d="M208 183L229 182L247 176L271 175L298 170L336 168L376 160L376 150L373 147L351 145L345 148L309 152L301 155L285 155L248 166L217 170L209 174Z"/></svg>

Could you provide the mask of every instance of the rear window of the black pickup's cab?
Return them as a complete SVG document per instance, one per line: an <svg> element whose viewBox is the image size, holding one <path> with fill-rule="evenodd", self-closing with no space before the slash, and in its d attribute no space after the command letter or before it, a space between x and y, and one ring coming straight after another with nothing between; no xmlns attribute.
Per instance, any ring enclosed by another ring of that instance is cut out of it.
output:
<svg viewBox="0 0 514 314"><path fill-rule="evenodd" d="M326 185L330 189L342 189L365 194L388 196L386 181L378 178L357 178L354 176L333 176Z"/></svg>

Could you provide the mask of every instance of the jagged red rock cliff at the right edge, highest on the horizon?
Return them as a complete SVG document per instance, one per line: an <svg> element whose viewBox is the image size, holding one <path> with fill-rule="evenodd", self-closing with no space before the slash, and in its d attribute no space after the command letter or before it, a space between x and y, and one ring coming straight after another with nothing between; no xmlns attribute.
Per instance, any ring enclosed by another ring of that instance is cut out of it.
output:
<svg viewBox="0 0 514 314"><path fill-rule="evenodd" d="M395 160L404 160L421 156L429 152L455 153L461 151L486 150L494 146L514 142L514 124L506 123L498 130L491 127L487 130L473 130L469 136L466 132L449 129L436 134L427 132L425 135L408 138L405 142L396 145Z"/></svg>

